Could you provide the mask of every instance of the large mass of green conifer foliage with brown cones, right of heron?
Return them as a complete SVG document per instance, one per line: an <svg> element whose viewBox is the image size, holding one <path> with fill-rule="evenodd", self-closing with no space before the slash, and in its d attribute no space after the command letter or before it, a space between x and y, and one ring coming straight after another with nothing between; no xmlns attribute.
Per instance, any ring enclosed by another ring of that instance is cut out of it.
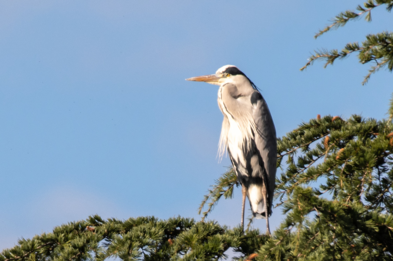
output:
<svg viewBox="0 0 393 261"><path fill-rule="evenodd" d="M256 260L393 260L391 119L318 115L277 147L286 217Z"/></svg>

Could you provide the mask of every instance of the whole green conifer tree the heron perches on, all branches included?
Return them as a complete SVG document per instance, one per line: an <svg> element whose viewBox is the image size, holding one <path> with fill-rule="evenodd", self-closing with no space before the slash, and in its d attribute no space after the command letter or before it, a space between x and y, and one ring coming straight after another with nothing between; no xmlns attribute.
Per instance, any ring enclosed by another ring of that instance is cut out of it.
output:
<svg viewBox="0 0 393 261"><path fill-rule="evenodd" d="M358 13L345 11L316 37L393 1L369 0ZM367 35L360 46L341 52L316 51L316 59L333 64L358 52L360 62L375 62L363 82L378 69L393 68L392 33ZM239 186L229 169L209 190L200 206L202 221L182 217L103 220L91 216L55 227L52 233L21 239L3 250L0 261L218 260L229 248L235 260L393 260L393 97L388 119L327 115L303 122L277 139L275 197L285 220L271 236L248 227L233 229L205 221L219 199L231 198ZM318 184L318 185L316 185Z"/></svg>

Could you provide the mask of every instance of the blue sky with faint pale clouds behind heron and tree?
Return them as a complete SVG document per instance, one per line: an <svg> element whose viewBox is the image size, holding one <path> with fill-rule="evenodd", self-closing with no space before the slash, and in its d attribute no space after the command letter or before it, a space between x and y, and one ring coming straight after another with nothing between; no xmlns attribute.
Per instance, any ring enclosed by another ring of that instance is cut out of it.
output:
<svg viewBox="0 0 393 261"><path fill-rule="evenodd" d="M223 65L262 90L280 136L317 114L386 117L388 71L367 86L355 56L299 71L313 49L392 29L379 7L314 40L360 3L0 2L0 249L96 213L199 219L230 161L216 157L218 86L184 79ZM234 226L240 210L239 188L211 218Z"/></svg>

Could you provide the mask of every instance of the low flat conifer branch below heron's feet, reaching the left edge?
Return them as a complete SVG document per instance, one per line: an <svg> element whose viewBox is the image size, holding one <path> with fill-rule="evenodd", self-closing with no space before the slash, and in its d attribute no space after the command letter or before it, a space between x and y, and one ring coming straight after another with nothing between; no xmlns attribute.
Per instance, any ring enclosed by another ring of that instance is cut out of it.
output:
<svg viewBox="0 0 393 261"><path fill-rule="evenodd" d="M17 246L3 250L0 261L218 260L230 247L242 260L266 240L259 230L244 234L240 227L228 229L213 221L196 223L181 217L104 221L95 215L55 227L52 233L21 239Z"/></svg>

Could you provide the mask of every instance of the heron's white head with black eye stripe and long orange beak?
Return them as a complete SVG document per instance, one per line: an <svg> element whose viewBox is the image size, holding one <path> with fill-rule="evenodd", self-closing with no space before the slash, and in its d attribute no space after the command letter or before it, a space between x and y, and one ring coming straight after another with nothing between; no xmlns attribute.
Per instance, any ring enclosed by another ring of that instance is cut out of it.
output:
<svg viewBox="0 0 393 261"><path fill-rule="evenodd" d="M242 82L250 81L247 76L234 65L222 66L216 71L215 74L202 75L197 77L188 78L195 82L207 82L209 84L222 85L227 82Z"/></svg>

